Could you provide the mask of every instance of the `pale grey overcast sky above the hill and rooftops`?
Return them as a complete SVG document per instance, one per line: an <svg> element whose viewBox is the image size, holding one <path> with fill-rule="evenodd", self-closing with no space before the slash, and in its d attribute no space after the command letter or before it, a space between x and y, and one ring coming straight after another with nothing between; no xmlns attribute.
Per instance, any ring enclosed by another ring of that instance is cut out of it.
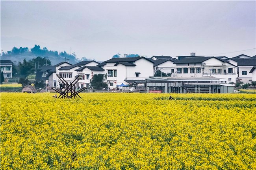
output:
<svg viewBox="0 0 256 170"><path fill-rule="evenodd" d="M254 56L256 1L1 0L1 50L35 44L97 61L116 53Z"/></svg>

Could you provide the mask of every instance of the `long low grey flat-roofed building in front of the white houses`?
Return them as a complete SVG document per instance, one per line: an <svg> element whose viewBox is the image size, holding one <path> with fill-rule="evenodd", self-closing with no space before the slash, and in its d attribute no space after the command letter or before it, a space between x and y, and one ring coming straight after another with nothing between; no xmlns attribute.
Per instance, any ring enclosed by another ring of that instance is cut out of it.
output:
<svg viewBox="0 0 256 170"><path fill-rule="evenodd" d="M215 77L152 77L148 93L234 93L234 85Z"/></svg>

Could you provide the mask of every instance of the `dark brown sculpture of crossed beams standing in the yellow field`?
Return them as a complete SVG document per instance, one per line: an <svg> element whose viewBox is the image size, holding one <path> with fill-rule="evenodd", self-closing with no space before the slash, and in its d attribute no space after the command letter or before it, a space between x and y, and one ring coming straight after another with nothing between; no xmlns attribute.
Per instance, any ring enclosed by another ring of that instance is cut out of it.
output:
<svg viewBox="0 0 256 170"><path fill-rule="evenodd" d="M65 85L65 88L64 90L58 90L56 88L51 88L52 90L58 92L60 95L58 98L70 98L72 99L72 97L74 98L78 98L80 97L78 95L78 93L82 92L83 90L87 89L87 88L81 88L80 90L78 91L75 91L75 84L81 79L79 76L76 77L76 79L74 79L71 84L69 84L65 79L63 79L63 77L61 77L59 74L57 74L57 77L59 78L59 80L61 80L63 82L63 84ZM69 92L70 92L70 95L69 95ZM78 97L77 97L78 96ZM81 97L80 97L81 98Z"/></svg>

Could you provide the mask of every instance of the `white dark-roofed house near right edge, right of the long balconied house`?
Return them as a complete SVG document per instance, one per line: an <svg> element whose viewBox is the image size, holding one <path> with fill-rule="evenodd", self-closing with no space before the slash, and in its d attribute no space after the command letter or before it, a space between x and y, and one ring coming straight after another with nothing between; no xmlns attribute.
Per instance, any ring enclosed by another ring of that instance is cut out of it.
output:
<svg viewBox="0 0 256 170"><path fill-rule="evenodd" d="M237 78L243 83L249 83L252 80L250 70L256 66L256 58L229 58L230 63L237 63Z"/></svg>

